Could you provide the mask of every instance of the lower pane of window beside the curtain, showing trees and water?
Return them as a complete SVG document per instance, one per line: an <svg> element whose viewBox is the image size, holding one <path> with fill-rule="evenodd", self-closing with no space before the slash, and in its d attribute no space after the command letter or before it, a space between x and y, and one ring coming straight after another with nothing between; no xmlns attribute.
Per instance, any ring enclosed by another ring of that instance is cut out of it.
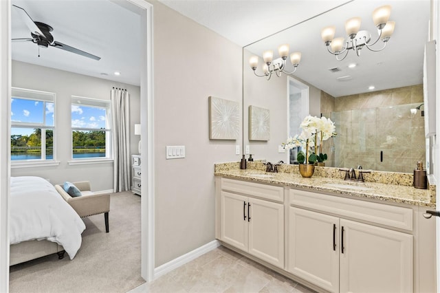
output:
<svg viewBox="0 0 440 293"><path fill-rule="evenodd" d="M104 158L106 135L106 131L72 131L73 158Z"/></svg>

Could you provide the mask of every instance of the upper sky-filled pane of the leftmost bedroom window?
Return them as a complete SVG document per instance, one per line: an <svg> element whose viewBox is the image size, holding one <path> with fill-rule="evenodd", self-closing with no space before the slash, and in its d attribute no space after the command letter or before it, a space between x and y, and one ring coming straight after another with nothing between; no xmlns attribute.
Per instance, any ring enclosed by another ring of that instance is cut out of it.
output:
<svg viewBox="0 0 440 293"><path fill-rule="evenodd" d="M11 121L39 123L39 124L43 123L44 104L45 102L41 102L38 100L25 100L21 98L12 98Z"/></svg>

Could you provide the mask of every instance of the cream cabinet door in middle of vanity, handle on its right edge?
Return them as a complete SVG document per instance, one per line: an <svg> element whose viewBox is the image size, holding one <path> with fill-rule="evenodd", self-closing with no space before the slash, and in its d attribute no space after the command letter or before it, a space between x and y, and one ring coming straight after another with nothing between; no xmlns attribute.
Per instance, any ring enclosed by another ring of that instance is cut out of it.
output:
<svg viewBox="0 0 440 293"><path fill-rule="evenodd" d="M339 218L289 208L287 270L329 292L339 292Z"/></svg>

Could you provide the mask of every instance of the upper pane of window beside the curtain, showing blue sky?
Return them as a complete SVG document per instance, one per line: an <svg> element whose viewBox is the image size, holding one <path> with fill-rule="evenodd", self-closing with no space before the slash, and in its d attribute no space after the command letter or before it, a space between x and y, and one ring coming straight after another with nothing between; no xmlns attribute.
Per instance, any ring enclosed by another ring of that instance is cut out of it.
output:
<svg viewBox="0 0 440 293"><path fill-rule="evenodd" d="M105 129L106 109L72 105L72 128Z"/></svg>

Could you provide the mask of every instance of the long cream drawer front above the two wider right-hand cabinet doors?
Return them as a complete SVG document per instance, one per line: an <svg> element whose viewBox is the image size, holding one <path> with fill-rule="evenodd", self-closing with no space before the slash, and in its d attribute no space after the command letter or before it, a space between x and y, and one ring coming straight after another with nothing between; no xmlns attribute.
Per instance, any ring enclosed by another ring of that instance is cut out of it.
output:
<svg viewBox="0 0 440 293"><path fill-rule="evenodd" d="M412 209L290 189L290 204L364 221L412 230Z"/></svg>

